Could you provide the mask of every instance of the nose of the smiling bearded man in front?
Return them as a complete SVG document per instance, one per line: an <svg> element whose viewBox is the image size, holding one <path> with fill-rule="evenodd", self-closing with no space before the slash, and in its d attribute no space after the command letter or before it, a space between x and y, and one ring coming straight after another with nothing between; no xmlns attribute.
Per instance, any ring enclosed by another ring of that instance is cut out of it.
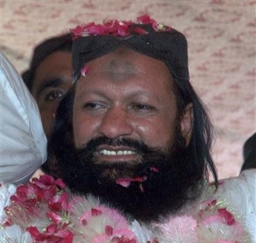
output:
<svg viewBox="0 0 256 243"><path fill-rule="evenodd" d="M98 129L102 136L115 139L121 136L129 136L133 132L132 121L126 110L110 108L103 116Z"/></svg>

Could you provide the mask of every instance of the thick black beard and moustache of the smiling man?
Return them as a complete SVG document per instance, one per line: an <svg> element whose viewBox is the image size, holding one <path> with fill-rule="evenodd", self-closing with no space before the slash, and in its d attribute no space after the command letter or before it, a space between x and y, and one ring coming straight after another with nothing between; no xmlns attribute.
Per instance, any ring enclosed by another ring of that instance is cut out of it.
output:
<svg viewBox="0 0 256 243"><path fill-rule="evenodd" d="M102 144L128 146L135 149L141 159L129 164L95 163L96 148ZM81 150L72 144L61 149L56 156L60 175L71 192L92 194L102 203L108 203L137 220L157 221L174 213L200 193L197 185L202 175L193 168L186 155L184 138L180 133L166 151L149 148L131 139L113 141L101 137L89 141ZM138 176L147 176L147 179L141 183L131 182L128 188L116 183L118 178Z"/></svg>

